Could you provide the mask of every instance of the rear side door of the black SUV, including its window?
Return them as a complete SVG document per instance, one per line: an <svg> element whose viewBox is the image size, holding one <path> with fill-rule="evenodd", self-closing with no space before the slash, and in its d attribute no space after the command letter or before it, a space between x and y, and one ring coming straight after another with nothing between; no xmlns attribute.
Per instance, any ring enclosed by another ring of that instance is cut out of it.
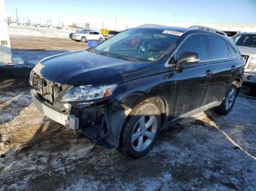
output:
<svg viewBox="0 0 256 191"><path fill-rule="evenodd" d="M238 69L240 61L235 61L237 53L229 49L225 39L215 35L208 35L211 50L211 65L213 77L211 77L210 98L211 101L222 101L227 88L233 81L234 72Z"/></svg>

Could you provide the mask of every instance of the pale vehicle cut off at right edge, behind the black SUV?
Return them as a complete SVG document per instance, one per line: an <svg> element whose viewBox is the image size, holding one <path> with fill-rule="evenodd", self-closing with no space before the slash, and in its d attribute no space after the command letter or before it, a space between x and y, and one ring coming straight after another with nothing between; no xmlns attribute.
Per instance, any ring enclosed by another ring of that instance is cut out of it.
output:
<svg viewBox="0 0 256 191"><path fill-rule="evenodd" d="M256 94L256 33L239 33L232 39L244 58L244 85Z"/></svg>

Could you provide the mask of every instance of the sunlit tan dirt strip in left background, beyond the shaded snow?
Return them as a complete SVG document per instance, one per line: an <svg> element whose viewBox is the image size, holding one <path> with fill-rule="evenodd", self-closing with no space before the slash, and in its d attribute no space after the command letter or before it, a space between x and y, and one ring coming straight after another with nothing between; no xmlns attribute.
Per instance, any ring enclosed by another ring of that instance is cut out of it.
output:
<svg viewBox="0 0 256 191"><path fill-rule="evenodd" d="M29 50L84 50L87 44L71 39L37 36L10 36L12 49Z"/></svg>

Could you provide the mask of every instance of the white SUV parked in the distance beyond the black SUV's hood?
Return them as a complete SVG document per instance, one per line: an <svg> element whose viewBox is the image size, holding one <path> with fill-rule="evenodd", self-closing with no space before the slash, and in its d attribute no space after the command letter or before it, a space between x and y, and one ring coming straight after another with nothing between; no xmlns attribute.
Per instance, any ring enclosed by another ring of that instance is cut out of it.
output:
<svg viewBox="0 0 256 191"><path fill-rule="evenodd" d="M88 40L97 40L102 42L104 40L104 36L98 31L86 31L85 33L72 34L72 39L83 43L87 42Z"/></svg>

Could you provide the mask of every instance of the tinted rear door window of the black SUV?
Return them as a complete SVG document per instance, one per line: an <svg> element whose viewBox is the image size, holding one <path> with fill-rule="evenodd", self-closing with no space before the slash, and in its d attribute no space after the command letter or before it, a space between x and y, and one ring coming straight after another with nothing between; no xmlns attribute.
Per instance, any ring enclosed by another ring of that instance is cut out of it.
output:
<svg viewBox="0 0 256 191"><path fill-rule="evenodd" d="M211 47L211 59L228 58L228 49L225 40L218 36L208 36Z"/></svg>

